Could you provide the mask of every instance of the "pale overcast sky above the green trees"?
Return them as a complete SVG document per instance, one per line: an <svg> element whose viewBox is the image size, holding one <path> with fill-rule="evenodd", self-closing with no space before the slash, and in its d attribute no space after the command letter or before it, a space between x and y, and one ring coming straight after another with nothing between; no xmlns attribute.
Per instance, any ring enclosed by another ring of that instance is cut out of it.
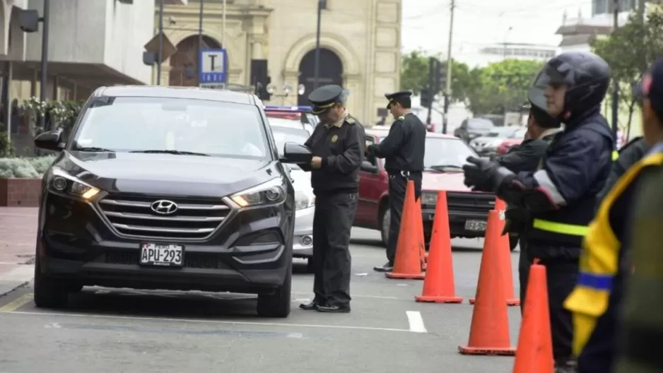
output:
<svg viewBox="0 0 663 373"><path fill-rule="evenodd" d="M403 0L401 43L405 52L447 54L452 0ZM454 0L452 57L473 65L481 47L528 43L556 47L555 31L568 19L591 14L591 0Z"/></svg>

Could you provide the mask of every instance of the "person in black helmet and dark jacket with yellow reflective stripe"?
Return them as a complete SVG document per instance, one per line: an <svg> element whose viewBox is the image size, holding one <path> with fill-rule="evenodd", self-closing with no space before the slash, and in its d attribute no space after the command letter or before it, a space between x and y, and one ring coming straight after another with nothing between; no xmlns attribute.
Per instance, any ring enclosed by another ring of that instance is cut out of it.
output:
<svg viewBox="0 0 663 373"><path fill-rule="evenodd" d="M546 111L560 119L536 172L514 174L497 162L468 158L468 186L493 184L508 204L526 208L529 257L546 266L548 304L556 372L574 372L573 324L563 308L578 277L582 237L594 217L596 196L612 165L614 136L600 114L610 83L606 61L589 52L566 52L550 59L529 90L529 100L546 100Z"/></svg>

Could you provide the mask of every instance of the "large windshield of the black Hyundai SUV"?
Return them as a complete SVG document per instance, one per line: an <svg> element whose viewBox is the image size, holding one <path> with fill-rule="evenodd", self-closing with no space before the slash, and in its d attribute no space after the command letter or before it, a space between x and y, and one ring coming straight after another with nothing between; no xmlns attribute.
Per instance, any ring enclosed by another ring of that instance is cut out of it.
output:
<svg viewBox="0 0 663 373"><path fill-rule="evenodd" d="M98 97L84 112L71 150L86 148L271 158L257 107L169 97Z"/></svg>

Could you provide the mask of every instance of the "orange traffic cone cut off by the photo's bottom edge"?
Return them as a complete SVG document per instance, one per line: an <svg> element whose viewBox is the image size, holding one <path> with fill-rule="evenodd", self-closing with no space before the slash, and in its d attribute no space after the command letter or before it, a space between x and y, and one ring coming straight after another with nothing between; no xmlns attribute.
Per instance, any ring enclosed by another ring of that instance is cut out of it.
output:
<svg viewBox="0 0 663 373"><path fill-rule="evenodd" d="M535 261L529 268L527 302L520 324L513 373L553 373L553 338L548 311L546 267Z"/></svg>

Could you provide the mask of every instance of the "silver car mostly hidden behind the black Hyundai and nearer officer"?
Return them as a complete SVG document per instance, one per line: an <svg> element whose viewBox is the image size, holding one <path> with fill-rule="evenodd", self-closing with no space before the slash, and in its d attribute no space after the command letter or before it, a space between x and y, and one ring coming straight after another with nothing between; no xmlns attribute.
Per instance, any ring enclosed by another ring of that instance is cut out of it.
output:
<svg viewBox="0 0 663 373"><path fill-rule="evenodd" d="M276 148L281 152L286 143L303 144L309 137L307 131L297 128L299 122L291 119L270 118L268 122L274 134ZM311 174L298 165L288 165L295 187L295 236L293 257L307 259L307 271L313 271L313 213L315 194L311 187Z"/></svg>

